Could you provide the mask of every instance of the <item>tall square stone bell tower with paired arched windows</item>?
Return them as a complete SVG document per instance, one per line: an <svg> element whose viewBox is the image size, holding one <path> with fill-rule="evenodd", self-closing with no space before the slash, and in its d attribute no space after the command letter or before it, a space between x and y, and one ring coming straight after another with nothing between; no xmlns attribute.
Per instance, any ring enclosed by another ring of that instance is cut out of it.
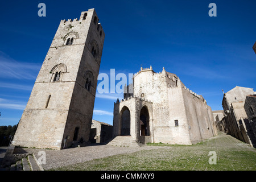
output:
<svg viewBox="0 0 256 182"><path fill-rule="evenodd" d="M62 149L88 142L104 38L94 9L61 20L12 145Z"/></svg>

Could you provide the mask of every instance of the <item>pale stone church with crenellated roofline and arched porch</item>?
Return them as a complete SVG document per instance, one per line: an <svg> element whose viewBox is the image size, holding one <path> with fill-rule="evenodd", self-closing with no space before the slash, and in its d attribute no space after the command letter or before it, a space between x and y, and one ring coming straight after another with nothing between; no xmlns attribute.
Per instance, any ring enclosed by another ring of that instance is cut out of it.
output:
<svg viewBox="0 0 256 182"><path fill-rule="evenodd" d="M114 104L113 137L141 143L195 144L217 135L212 109L174 73L141 68Z"/></svg>

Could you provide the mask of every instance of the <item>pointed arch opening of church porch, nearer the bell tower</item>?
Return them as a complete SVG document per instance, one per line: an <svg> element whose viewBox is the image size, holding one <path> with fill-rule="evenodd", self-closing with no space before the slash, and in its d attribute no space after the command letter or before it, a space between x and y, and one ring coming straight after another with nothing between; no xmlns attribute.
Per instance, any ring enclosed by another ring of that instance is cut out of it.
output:
<svg viewBox="0 0 256 182"><path fill-rule="evenodd" d="M130 135L131 114L128 107L124 106L121 110L121 136Z"/></svg>

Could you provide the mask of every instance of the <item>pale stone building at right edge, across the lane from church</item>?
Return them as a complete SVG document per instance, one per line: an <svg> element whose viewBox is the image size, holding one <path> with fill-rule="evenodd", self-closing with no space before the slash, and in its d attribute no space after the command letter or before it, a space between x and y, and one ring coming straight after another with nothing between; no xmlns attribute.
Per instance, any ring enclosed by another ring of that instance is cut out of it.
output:
<svg viewBox="0 0 256 182"><path fill-rule="evenodd" d="M222 100L225 115L222 122L224 122L226 133L245 143L249 143L251 146L255 146L253 142L256 135L251 134L253 130L252 126L255 127L255 122L249 124L250 122L247 115L249 111L246 112L246 110L248 110L248 107L256 109L254 97L252 100L247 98L247 96L254 96L254 94L253 88L236 86L232 90L229 90L229 92L224 93ZM255 115L255 112L254 114L252 113L250 118L254 118L253 115Z"/></svg>

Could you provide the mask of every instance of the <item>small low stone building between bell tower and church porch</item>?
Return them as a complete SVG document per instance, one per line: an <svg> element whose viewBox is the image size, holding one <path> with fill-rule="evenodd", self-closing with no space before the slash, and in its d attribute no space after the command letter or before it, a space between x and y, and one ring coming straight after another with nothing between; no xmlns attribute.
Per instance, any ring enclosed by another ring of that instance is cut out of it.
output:
<svg viewBox="0 0 256 182"><path fill-rule="evenodd" d="M113 126L108 123L92 120L90 129L90 142L105 143L112 138Z"/></svg>

